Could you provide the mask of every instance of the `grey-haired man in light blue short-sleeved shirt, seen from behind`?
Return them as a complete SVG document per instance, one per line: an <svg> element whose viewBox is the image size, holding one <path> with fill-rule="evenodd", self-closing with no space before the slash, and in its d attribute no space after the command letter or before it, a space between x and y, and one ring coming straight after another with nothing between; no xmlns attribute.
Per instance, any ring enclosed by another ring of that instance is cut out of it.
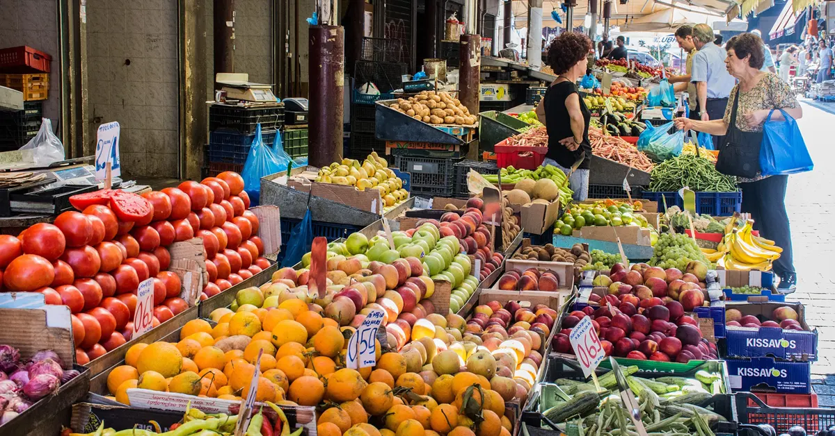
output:
<svg viewBox="0 0 835 436"><path fill-rule="evenodd" d="M713 29L707 24L696 24L692 31L696 55L693 56L691 82L696 84L696 98L699 103L699 118L702 121L721 119L736 79L727 72L725 50L716 46ZM725 135L713 136L717 149L725 144Z"/></svg>

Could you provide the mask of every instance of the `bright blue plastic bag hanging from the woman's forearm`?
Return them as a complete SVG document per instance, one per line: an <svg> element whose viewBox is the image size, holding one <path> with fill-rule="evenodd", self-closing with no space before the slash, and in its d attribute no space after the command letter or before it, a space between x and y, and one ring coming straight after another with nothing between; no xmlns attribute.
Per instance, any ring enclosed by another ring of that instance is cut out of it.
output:
<svg viewBox="0 0 835 436"><path fill-rule="evenodd" d="M778 176L812 171L812 156L809 156L797 122L782 109L780 112L785 120L772 121L772 110L762 126L760 173Z"/></svg>

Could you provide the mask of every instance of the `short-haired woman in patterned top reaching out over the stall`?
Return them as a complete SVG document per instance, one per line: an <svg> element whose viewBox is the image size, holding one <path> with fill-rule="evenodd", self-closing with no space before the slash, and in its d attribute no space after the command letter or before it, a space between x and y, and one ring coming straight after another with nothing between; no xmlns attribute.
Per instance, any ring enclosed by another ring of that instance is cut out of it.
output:
<svg viewBox="0 0 835 436"><path fill-rule="evenodd" d="M762 39L753 33L741 33L726 44L726 65L728 72L739 83L731 90L731 104L721 119L693 121L676 118L676 127L693 129L711 135L727 135L722 153L738 155L745 149L751 151L751 144L762 143L762 125L772 110L772 120L782 120L782 109L792 118L801 118L803 111L797 103L792 88L775 74L764 73L762 68ZM741 162L740 168L759 168L759 152L751 153L750 162ZM739 176L740 168L726 171ZM752 170L751 170L752 171ZM774 262L774 272L780 277L777 290L792 293L797 286L797 274L792 263L792 234L786 213L786 185L788 176L762 177L759 171L752 178L737 177L742 189L742 212L751 213L754 228L764 238L774 239L783 249L782 255Z"/></svg>

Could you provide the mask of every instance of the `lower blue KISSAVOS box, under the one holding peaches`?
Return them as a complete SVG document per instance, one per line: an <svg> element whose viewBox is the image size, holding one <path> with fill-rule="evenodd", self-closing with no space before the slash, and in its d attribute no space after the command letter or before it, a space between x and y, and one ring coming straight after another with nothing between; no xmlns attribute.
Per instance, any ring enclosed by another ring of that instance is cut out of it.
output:
<svg viewBox="0 0 835 436"><path fill-rule="evenodd" d="M729 358L725 363L736 391L812 392L812 363L780 362L773 358Z"/></svg>

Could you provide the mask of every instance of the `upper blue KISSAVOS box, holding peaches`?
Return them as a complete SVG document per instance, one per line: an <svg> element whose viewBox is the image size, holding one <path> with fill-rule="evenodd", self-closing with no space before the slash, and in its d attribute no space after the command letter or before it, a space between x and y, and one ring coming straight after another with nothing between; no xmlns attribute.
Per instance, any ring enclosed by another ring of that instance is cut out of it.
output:
<svg viewBox="0 0 835 436"><path fill-rule="evenodd" d="M790 307L797 312L803 330L778 327L745 328L726 326L726 355L729 357L772 357L794 361L817 360L817 330L806 323L801 303L726 303L725 308L739 310L742 315L772 318L776 308Z"/></svg>

